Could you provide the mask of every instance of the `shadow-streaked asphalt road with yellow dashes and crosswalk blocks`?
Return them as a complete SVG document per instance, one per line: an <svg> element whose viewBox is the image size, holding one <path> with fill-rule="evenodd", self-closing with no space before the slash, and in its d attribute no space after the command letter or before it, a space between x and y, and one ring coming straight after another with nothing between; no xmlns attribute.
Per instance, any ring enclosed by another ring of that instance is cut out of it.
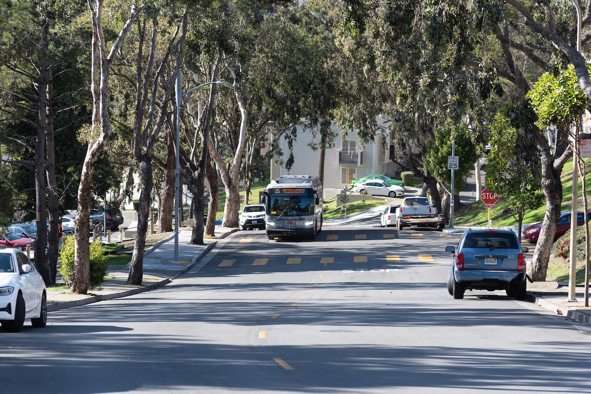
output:
<svg viewBox="0 0 591 394"><path fill-rule="evenodd" d="M504 292L447 293L457 239L242 231L160 290L0 332L7 393L591 392L591 337Z"/></svg>

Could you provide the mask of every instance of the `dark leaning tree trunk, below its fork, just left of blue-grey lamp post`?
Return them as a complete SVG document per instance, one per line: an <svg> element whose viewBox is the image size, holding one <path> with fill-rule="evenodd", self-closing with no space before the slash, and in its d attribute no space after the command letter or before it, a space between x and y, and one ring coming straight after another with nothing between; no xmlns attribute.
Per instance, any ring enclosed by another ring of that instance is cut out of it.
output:
<svg viewBox="0 0 591 394"><path fill-rule="evenodd" d="M144 277L144 248L150 217L151 194L153 185L151 155L142 155L138 163L139 182L142 190L139 193L138 227L135 234L134 254L129 263L129 275L125 284L140 285Z"/></svg>

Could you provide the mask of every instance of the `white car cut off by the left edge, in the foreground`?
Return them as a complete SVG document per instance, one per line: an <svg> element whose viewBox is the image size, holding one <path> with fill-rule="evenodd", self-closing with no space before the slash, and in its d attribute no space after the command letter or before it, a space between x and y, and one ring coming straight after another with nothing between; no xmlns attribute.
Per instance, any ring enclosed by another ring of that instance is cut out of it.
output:
<svg viewBox="0 0 591 394"><path fill-rule="evenodd" d="M0 323L16 333L25 319L33 327L47 324L47 293L43 278L26 254L0 247Z"/></svg>

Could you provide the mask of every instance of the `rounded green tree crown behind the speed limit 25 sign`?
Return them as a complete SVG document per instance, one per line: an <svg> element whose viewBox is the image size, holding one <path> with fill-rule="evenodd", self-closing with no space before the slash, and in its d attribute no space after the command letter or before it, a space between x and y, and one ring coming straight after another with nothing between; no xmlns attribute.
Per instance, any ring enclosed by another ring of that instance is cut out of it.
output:
<svg viewBox="0 0 591 394"><path fill-rule="evenodd" d="M425 164L439 182L449 186L452 183L452 172L447 169L447 156L452 156L452 140L455 140L455 155L460 163L454 171L454 189L462 190L466 186L466 179L474 168L478 159L476 144L466 124L460 126L446 126L435 134L435 140L427 140Z"/></svg>

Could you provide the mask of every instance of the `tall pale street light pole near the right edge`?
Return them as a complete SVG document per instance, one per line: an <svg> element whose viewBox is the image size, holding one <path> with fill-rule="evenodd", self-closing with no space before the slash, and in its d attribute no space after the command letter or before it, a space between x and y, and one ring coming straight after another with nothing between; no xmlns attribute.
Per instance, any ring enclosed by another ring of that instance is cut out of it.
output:
<svg viewBox="0 0 591 394"><path fill-rule="evenodd" d="M573 0L574 8L577 10L577 52L581 52L581 9L579 2ZM579 143L579 126L574 125L573 137L573 194L570 207L570 269L569 269L569 297L567 301L574 302L576 293L576 275L577 275L577 202L579 200L579 176L577 174L577 161L579 153L577 144Z"/></svg>

